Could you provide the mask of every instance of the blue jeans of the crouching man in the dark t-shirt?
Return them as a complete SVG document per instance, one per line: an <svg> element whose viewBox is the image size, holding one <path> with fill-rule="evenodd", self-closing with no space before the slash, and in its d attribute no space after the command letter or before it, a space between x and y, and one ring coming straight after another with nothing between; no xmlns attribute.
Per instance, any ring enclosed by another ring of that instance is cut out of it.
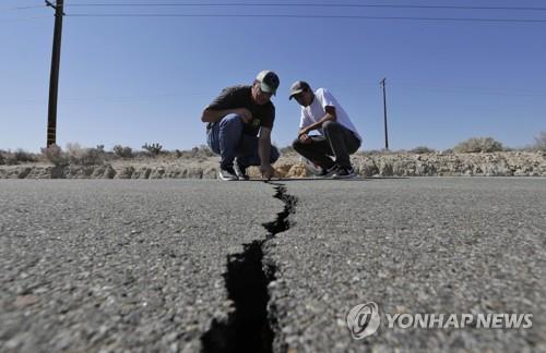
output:
<svg viewBox="0 0 546 353"><path fill-rule="evenodd" d="M235 158L241 168L260 166L258 137L242 132L242 120L237 114L228 114L206 131L209 147L218 154L222 168L233 167ZM278 149L271 146L270 163L278 159Z"/></svg>

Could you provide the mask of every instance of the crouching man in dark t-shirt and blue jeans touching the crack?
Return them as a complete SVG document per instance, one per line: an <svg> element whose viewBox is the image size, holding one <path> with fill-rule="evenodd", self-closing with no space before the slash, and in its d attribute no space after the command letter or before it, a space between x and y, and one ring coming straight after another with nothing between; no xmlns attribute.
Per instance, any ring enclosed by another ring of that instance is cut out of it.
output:
<svg viewBox="0 0 546 353"><path fill-rule="evenodd" d="M262 178L273 176L271 165L278 159L278 150L271 145L275 120L271 97L278 84L273 71L262 71L252 85L225 88L203 110L207 144L221 156L219 179L248 180L249 166L260 166Z"/></svg>

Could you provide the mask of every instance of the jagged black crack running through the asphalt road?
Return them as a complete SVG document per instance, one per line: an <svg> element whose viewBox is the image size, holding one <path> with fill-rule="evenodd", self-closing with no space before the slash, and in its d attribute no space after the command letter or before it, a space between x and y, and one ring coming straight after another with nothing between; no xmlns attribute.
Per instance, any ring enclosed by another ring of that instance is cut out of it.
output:
<svg viewBox="0 0 546 353"><path fill-rule="evenodd" d="M287 194L282 183L265 182L274 185L273 197L284 203L284 209L272 222L263 223L269 232L265 240L244 244L244 252L227 257L227 272L224 280L228 297L235 304L226 322L214 319L211 328L201 337L203 352L273 352L276 321L274 314L269 315L270 295L268 285L275 280L276 268L263 261L264 244L276 234L288 230L293 223L289 216L296 211L297 197Z"/></svg>

